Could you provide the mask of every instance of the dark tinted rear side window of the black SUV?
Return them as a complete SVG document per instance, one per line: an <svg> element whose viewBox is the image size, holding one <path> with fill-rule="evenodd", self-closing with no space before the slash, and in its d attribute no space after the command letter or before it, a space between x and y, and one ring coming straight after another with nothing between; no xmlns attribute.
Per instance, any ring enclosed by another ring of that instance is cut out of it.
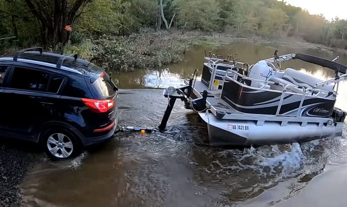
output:
<svg viewBox="0 0 347 207"><path fill-rule="evenodd" d="M11 88L58 93L63 78L43 71L16 67Z"/></svg>

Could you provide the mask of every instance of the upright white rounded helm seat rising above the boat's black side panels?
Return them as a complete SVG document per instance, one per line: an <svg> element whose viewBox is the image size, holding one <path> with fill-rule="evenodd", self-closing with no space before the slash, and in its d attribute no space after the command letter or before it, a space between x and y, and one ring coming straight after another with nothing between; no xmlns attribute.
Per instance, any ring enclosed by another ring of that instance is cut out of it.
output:
<svg viewBox="0 0 347 207"><path fill-rule="evenodd" d="M264 60L261 60L252 67L249 73L249 78L257 79L261 81L268 81L270 80L272 76L272 71L273 69L270 66L268 66ZM251 83L252 87L270 88L270 85L265 85L265 86L263 85L264 85L264 82L260 82L260 81L252 80L252 83Z"/></svg>

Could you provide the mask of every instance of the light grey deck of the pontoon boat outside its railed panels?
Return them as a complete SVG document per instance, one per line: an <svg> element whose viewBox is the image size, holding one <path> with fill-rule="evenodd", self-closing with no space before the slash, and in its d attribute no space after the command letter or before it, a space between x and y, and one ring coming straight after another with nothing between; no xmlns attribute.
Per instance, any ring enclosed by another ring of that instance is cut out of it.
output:
<svg viewBox="0 0 347 207"><path fill-rule="evenodd" d="M185 81L186 84L189 84L188 81ZM194 82L193 82L194 85ZM201 92L207 90L211 93L209 95L214 95L215 97L207 97L207 106L210 106L211 112L217 116L218 112L223 112L225 115L222 119L224 120L253 120L257 121L259 124L264 123L265 121L275 121L281 122L281 125L286 125L288 122L300 122L302 126L307 123L318 123L319 125L327 123L329 118L315 118L315 117L290 117L290 116L276 116L276 115L266 115L266 114L247 114L234 110L230 107L221 97L222 89L218 90L209 90L201 81L196 81L193 89L193 93L198 98L202 97Z"/></svg>

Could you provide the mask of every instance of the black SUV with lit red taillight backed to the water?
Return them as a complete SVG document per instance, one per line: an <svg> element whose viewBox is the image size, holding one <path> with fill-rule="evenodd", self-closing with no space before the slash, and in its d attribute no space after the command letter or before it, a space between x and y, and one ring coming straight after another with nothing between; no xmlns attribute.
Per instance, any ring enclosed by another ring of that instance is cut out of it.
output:
<svg viewBox="0 0 347 207"><path fill-rule="evenodd" d="M0 57L0 136L41 143L52 159L70 158L114 135L117 90L102 68L77 54L35 47Z"/></svg>

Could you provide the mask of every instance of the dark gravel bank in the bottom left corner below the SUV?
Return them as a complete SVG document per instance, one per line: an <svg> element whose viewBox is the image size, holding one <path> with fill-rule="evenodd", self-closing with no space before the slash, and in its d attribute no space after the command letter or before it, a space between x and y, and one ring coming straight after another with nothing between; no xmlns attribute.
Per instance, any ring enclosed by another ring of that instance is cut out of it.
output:
<svg viewBox="0 0 347 207"><path fill-rule="evenodd" d="M38 158L38 155L32 151L32 144L21 145L21 142L17 141L15 145L11 142L7 140L0 142L0 207L15 207L20 203L18 185Z"/></svg>

